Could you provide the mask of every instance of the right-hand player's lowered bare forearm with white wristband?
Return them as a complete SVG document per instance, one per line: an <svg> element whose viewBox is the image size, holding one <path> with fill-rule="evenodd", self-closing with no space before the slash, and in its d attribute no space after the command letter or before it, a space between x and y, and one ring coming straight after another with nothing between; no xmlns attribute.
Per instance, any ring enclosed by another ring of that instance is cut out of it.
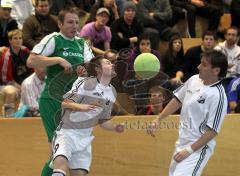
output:
<svg viewBox="0 0 240 176"><path fill-rule="evenodd" d="M216 135L217 133L214 130L207 128L207 131L196 142L194 142L191 146L183 149L182 151L177 152L174 155L175 161L181 162L182 160L190 156L194 151L206 145L210 140L216 137Z"/></svg>

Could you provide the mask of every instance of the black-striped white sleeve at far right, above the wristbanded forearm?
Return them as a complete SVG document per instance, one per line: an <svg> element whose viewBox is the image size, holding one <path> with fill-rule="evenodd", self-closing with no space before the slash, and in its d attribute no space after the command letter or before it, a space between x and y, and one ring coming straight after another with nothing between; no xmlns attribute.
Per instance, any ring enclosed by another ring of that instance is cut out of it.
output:
<svg viewBox="0 0 240 176"><path fill-rule="evenodd" d="M219 133L224 117L227 114L227 98L223 87L218 87L217 89L218 94L211 97L209 104L207 126Z"/></svg>

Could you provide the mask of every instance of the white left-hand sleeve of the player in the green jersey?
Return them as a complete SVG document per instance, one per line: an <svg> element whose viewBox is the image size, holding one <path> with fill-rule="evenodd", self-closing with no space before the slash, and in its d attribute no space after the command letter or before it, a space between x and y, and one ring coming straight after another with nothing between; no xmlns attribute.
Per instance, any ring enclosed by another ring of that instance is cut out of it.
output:
<svg viewBox="0 0 240 176"><path fill-rule="evenodd" d="M55 40L54 40L54 36L57 33L54 32L52 34L47 35L46 37L44 37L40 43L38 43L37 45L34 46L32 53L36 53L36 54L41 54L43 56L50 56L55 49Z"/></svg>

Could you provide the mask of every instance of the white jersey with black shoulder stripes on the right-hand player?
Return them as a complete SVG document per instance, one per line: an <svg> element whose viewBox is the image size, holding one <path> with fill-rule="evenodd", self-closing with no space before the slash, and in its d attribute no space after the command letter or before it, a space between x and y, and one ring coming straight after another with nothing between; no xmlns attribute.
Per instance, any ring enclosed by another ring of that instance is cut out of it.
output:
<svg viewBox="0 0 240 176"><path fill-rule="evenodd" d="M219 133L227 113L227 97L220 81L204 85L199 75L194 75L174 95L182 103L177 146L191 145L207 127ZM212 139L207 145L214 149L215 143Z"/></svg>

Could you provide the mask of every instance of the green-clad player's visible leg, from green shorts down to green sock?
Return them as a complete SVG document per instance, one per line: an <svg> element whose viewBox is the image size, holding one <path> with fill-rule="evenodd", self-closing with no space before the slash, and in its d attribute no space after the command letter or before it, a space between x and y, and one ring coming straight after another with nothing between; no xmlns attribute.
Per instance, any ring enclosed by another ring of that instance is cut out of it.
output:
<svg viewBox="0 0 240 176"><path fill-rule="evenodd" d="M39 110L42 118L42 122L45 128L45 131L47 133L48 141L51 145L51 141L53 138L54 131L56 130L56 127L58 123L55 119L57 119L55 116L56 112L59 112L61 109L60 102L52 100L52 99L45 99L40 98L39 102ZM50 156L51 156L51 150L49 150ZM42 176L49 176L52 174L52 168L49 167L50 159L45 163L43 169L42 169Z"/></svg>

